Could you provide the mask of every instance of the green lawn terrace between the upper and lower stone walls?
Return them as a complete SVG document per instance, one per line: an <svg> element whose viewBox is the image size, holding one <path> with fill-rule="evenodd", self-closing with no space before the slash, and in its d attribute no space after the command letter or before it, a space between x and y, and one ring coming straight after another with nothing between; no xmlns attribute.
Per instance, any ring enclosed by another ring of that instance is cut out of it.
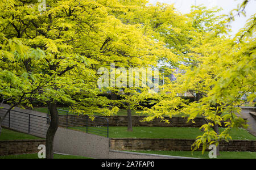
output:
<svg viewBox="0 0 256 170"><path fill-rule="evenodd" d="M86 127L71 128L86 131ZM220 132L223 131L220 128ZM133 131L127 131L127 127L109 127L109 138L164 138L164 139L196 139L203 134L199 128L175 128L175 127L133 127ZM244 129L232 129L230 135L233 140L256 140L256 137Z"/></svg>

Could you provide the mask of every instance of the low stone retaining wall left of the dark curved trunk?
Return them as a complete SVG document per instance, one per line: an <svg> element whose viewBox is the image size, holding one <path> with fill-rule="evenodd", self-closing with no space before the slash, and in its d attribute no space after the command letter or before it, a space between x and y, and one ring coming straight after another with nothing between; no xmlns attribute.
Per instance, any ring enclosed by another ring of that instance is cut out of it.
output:
<svg viewBox="0 0 256 170"><path fill-rule="evenodd" d="M0 155L35 154L39 152L39 145L46 145L46 140L0 141Z"/></svg>

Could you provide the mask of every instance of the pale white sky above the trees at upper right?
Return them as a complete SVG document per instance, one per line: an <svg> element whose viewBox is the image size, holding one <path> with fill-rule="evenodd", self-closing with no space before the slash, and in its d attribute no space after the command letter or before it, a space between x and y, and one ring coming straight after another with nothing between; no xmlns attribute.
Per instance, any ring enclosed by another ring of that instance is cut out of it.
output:
<svg viewBox="0 0 256 170"><path fill-rule="evenodd" d="M220 14L229 14L231 10L237 7L238 4L242 2L242 0L149 0L150 3L155 4L156 2L161 3L168 3L168 4L175 4L177 10L182 12L183 14L188 13L191 10L192 5L201 5L207 6L209 8L218 6L221 7L223 10ZM232 23L232 31L233 35L236 34L239 29L241 29L246 20L250 18L251 15L255 14L256 11L256 1L252 0L249 2L249 5L246 7L246 17L241 15L237 17L236 20Z"/></svg>

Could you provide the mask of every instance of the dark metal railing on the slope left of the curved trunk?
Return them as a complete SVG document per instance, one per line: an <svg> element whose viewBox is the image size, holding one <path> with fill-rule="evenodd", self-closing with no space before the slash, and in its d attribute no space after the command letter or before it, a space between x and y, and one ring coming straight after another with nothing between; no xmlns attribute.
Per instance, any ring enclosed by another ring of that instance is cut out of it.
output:
<svg viewBox="0 0 256 170"><path fill-rule="evenodd" d="M0 109L0 116L4 116L9 109ZM2 122L6 128L14 129L23 133L46 137L48 123L51 120L48 117L11 110Z"/></svg>

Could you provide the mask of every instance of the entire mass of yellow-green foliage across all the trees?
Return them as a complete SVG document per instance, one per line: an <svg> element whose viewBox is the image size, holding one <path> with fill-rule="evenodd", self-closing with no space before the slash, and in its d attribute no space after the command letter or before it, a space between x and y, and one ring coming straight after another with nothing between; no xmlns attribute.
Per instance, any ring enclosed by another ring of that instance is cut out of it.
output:
<svg viewBox="0 0 256 170"><path fill-rule="evenodd" d="M112 115L118 108L99 94L119 89L97 88L100 67L166 63L181 70L175 82L165 78L154 95L148 88L139 93L124 87L115 102L136 109L155 99L154 107L143 108L145 121L180 113L192 121L203 116L209 122L194 148L228 140L231 128L246 127L235 113L241 96L247 94L248 101L256 96L255 15L234 38L226 35L226 26L249 1L228 16L201 6L182 15L172 5L146 0L49 0L45 11L38 10L38 1L0 2L0 99L5 102L32 107L36 99L68 104L80 114ZM165 68L164 74L170 73L172 68ZM188 104L180 97L185 92L200 94L201 100ZM227 128L217 134L212 126L221 121Z"/></svg>

